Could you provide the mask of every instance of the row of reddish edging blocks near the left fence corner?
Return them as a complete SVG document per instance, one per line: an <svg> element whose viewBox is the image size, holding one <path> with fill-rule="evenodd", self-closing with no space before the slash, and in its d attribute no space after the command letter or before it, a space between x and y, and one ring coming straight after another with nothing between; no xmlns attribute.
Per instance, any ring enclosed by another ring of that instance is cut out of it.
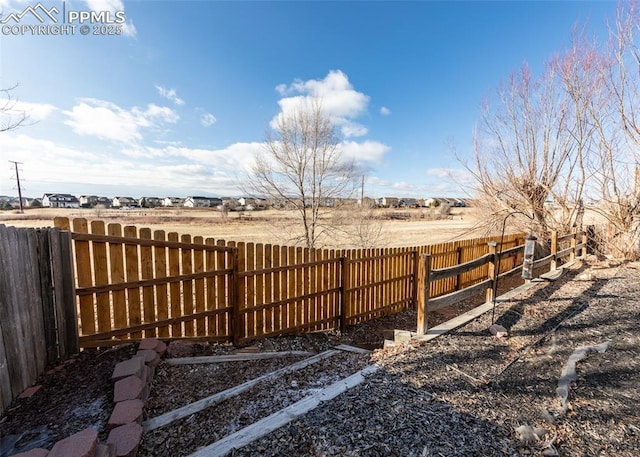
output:
<svg viewBox="0 0 640 457"><path fill-rule="evenodd" d="M50 451L31 449L14 457L135 457L142 439L144 404L155 367L166 350L163 341L146 338L140 341L136 355L115 366L111 376L115 407L107 423L106 443L99 443L98 432L87 428L58 441Z"/></svg>

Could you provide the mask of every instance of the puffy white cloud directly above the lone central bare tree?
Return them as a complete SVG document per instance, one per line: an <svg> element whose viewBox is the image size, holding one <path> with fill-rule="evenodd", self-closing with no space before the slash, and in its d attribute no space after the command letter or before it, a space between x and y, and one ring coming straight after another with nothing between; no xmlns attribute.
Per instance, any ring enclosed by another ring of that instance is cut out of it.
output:
<svg viewBox="0 0 640 457"><path fill-rule="evenodd" d="M369 97L356 91L340 70L331 70L322 80L295 80L288 86L279 84L276 91L283 98L278 101L280 113L272 119L272 127L277 125L280 116L289 116L309 101L319 100L325 114L341 128L346 138L367 134L366 127L354 119L366 112Z"/></svg>

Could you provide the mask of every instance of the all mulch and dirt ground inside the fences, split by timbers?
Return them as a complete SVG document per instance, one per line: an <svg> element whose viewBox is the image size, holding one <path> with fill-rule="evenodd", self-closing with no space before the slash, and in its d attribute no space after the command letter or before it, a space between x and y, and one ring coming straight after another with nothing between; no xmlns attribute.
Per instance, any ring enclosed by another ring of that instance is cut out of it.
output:
<svg viewBox="0 0 640 457"><path fill-rule="evenodd" d="M380 369L359 386L232 455L640 455L639 271L640 263L591 259L500 302L495 322L509 330L507 338L491 336L487 313L430 342L378 349L371 356L340 353L145 434L139 455L189 455L371 364ZM407 312L342 335L254 344L261 351L314 353L338 343L371 347L383 328L411 325L415 314ZM198 351L235 349L203 345ZM43 376L41 391L16 401L0 419L2 457L25 450L27 443L48 447L74 427L92 425L104 433L112 407L112 386L105 379L132 350L83 353ZM291 362L163 363L147 418Z"/></svg>

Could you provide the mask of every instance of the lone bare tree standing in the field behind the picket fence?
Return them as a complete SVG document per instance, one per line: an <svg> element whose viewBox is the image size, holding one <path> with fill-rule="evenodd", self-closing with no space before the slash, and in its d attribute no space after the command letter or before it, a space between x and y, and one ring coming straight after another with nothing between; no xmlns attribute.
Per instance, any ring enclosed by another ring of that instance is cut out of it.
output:
<svg viewBox="0 0 640 457"><path fill-rule="evenodd" d="M318 247L331 229L325 213L355 188L353 161L343 156L335 124L319 101L276 118L251 171L247 189L293 208L301 230L290 240L308 248Z"/></svg>

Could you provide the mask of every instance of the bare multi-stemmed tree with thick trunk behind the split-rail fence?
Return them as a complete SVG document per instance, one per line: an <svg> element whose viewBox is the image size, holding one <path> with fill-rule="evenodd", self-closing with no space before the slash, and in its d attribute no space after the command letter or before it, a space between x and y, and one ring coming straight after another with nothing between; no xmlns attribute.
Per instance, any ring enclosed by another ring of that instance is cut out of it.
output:
<svg viewBox="0 0 640 457"><path fill-rule="evenodd" d="M575 185L576 147L569 131L570 100L552 62L539 78L525 64L484 107L474 139L475 177L480 199L501 220L505 212L532 215L539 235L555 229L545 205L553 196L567 218ZM495 221L494 221L495 222ZM562 225L571 221L562 220Z"/></svg>

